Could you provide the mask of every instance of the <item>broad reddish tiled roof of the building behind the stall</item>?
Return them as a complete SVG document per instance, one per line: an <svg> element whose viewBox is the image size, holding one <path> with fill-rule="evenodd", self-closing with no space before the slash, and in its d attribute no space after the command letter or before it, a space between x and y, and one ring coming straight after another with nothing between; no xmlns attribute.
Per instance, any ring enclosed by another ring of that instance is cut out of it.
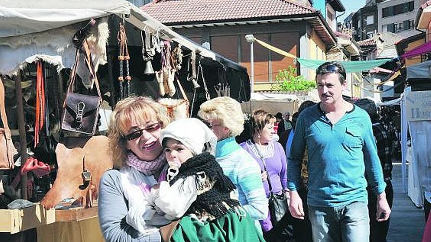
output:
<svg viewBox="0 0 431 242"><path fill-rule="evenodd" d="M316 12L311 7L287 0L162 0L146 4L142 9L167 25L303 15Z"/></svg>

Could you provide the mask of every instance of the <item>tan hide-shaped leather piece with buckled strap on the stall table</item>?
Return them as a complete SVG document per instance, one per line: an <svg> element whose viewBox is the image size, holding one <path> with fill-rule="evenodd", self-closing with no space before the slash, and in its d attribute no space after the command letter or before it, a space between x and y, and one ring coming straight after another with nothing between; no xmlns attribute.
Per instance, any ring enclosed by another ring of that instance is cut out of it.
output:
<svg viewBox="0 0 431 242"><path fill-rule="evenodd" d="M76 145L77 142L72 143ZM57 178L41 204L50 209L65 198L74 198L82 206L91 207L97 198L101 176L113 167L108 137L93 136L82 148L67 148L59 143L55 153Z"/></svg>

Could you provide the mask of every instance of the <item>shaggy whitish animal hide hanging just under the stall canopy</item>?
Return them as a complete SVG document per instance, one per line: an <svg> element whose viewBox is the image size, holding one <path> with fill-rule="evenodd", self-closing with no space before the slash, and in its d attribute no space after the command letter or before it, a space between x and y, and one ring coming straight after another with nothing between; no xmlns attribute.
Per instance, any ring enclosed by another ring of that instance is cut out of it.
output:
<svg viewBox="0 0 431 242"><path fill-rule="evenodd" d="M60 72L65 67L72 68L75 53L72 36L81 27L82 24L72 24L41 33L2 38L2 45L0 45L0 73L16 75L19 70L24 69L35 60L43 60L56 66L57 72ZM91 28L87 37L96 71L98 65L107 63L106 45L108 38L108 19L97 19L96 25ZM93 87L94 80L89 78L90 73L85 66L84 60L80 60L77 74L83 80L86 88Z"/></svg>

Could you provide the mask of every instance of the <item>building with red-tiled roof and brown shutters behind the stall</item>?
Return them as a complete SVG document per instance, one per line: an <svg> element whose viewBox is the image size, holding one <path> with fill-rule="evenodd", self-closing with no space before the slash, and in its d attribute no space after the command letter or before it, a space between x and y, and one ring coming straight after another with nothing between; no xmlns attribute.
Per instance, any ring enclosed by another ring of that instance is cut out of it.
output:
<svg viewBox="0 0 431 242"><path fill-rule="evenodd" d="M247 34L306 59L326 60L327 50L336 44L332 28L320 11L310 6L280 0L233 2L164 0L147 4L143 10L196 43L208 43L212 50L247 67L250 74ZM314 80L314 70L301 68L293 58L256 42L253 57L254 90L271 90L279 70L288 66L298 67L298 74Z"/></svg>

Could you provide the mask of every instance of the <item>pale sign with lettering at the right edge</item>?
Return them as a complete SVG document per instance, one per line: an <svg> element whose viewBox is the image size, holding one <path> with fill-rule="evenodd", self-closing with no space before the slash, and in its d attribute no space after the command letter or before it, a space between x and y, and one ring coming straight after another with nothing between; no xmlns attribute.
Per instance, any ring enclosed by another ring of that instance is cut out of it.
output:
<svg viewBox="0 0 431 242"><path fill-rule="evenodd" d="M431 91L411 91L406 94L408 121L431 120Z"/></svg>

